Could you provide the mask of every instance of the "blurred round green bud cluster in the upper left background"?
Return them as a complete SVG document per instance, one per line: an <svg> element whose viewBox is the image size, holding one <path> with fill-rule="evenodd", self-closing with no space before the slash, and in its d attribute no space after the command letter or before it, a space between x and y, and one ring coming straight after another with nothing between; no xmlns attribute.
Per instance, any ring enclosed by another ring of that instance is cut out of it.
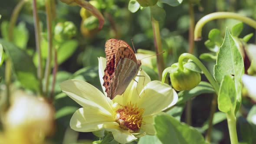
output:
<svg viewBox="0 0 256 144"><path fill-rule="evenodd" d="M66 21L64 23L57 23L54 29L54 34L55 34L54 38L58 42L71 39L76 35L75 24L71 21Z"/></svg>

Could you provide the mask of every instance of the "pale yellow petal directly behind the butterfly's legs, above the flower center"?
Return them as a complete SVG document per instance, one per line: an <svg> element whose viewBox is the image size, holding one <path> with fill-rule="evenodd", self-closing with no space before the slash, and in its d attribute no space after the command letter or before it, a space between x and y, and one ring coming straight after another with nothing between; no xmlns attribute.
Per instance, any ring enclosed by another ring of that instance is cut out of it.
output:
<svg viewBox="0 0 256 144"><path fill-rule="evenodd" d="M128 102L137 102L139 100L139 93L143 90L144 86L148 84L151 79L146 72L140 70L131 83L126 88L122 96L116 96L113 101L121 105L126 105Z"/></svg>

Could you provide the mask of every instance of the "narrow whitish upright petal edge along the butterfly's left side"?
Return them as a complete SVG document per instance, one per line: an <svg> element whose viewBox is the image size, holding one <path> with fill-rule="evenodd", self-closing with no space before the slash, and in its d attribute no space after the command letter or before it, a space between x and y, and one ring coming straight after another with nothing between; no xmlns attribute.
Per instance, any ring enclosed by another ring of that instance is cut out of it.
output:
<svg viewBox="0 0 256 144"><path fill-rule="evenodd" d="M99 80L100 80L100 83L102 85L102 90L104 92L104 95L107 96L107 93L105 92L105 87L103 86L103 76L104 76L104 70L106 68L106 59L103 58L103 57L99 57L98 58L98 76L99 76Z"/></svg>

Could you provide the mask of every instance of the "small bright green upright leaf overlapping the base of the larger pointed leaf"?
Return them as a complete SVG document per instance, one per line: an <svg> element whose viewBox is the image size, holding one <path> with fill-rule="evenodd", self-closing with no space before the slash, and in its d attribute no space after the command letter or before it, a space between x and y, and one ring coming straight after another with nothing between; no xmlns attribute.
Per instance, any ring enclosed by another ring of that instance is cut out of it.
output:
<svg viewBox="0 0 256 144"><path fill-rule="evenodd" d="M236 108L236 87L233 79L225 75L218 94L218 108L222 112L234 111Z"/></svg>

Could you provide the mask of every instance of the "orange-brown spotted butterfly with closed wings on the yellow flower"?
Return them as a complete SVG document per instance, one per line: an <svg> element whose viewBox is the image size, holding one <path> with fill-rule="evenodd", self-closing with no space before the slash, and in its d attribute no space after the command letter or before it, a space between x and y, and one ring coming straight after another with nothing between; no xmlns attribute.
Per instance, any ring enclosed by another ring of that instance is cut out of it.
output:
<svg viewBox="0 0 256 144"><path fill-rule="evenodd" d="M103 76L103 86L110 99L121 95L138 74L141 61L123 40L108 39L105 43L106 68Z"/></svg>

